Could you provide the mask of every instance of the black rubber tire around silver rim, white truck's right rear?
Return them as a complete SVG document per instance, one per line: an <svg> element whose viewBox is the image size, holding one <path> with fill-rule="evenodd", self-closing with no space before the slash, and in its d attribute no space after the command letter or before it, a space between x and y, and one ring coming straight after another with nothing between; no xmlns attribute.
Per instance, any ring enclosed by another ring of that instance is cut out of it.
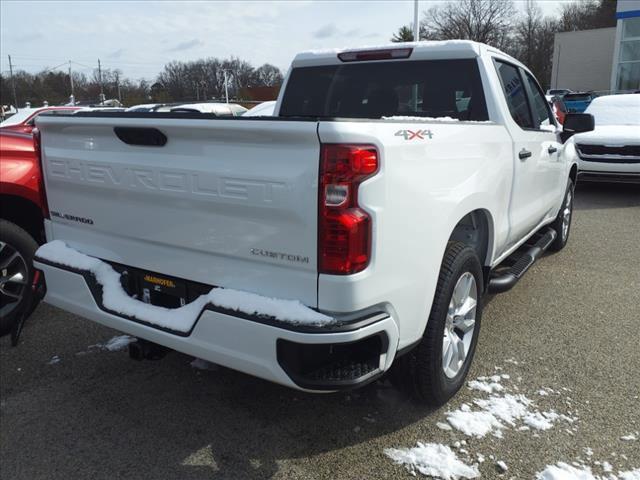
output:
<svg viewBox="0 0 640 480"><path fill-rule="evenodd" d="M476 322L464 363L458 373L450 378L445 375L443 368L443 336L454 288L466 272L471 273L476 281ZM398 358L392 367L391 379L396 386L419 402L434 407L445 404L456 394L464 385L478 342L482 292L482 267L475 250L461 242L449 242L422 340L413 350Z"/></svg>

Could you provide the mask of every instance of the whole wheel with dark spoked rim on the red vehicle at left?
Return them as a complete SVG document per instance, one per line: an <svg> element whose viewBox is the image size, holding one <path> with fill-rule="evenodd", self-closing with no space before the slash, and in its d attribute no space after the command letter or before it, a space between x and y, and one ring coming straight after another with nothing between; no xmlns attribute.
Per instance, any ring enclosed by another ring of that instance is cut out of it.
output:
<svg viewBox="0 0 640 480"><path fill-rule="evenodd" d="M26 231L0 220L0 336L11 331L22 312L35 306L31 282L37 248Z"/></svg>

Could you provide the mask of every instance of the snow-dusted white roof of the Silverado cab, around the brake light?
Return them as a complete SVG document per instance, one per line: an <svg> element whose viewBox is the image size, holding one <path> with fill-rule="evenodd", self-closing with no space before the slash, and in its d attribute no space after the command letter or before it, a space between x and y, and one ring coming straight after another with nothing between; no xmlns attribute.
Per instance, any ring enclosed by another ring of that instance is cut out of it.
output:
<svg viewBox="0 0 640 480"><path fill-rule="evenodd" d="M292 67L341 64L338 55L346 52L371 52L390 49L412 49L410 60L437 60L447 58L474 58L485 52L507 57L514 63L520 62L506 53L484 43L471 40L442 40L387 43L384 45L367 45L360 47L333 48L325 50L309 50L295 56ZM401 59L400 59L401 60Z"/></svg>

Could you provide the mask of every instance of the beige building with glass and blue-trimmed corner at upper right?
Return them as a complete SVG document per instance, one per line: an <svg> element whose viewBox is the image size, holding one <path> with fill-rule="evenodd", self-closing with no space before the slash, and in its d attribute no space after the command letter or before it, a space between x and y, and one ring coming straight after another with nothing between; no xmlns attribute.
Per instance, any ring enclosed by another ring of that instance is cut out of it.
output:
<svg viewBox="0 0 640 480"><path fill-rule="evenodd" d="M556 33L551 88L640 90L640 0L618 0L615 27Z"/></svg>

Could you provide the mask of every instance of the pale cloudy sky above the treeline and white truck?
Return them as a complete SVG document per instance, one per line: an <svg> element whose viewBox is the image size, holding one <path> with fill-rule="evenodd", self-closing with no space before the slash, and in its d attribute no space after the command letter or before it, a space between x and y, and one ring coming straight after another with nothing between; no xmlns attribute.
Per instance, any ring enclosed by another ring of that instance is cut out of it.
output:
<svg viewBox="0 0 640 480"><path fill-rule="evenodd" d="M420 0L420 10L442 3ZM524 0L515 2L522 8ZM555 14L562 1L538 2ZM86 74L119 68L153 79L171 60L231 55L286 71L302 50L387 43L413 19L413 1L0 2L0 70L37 72L73 60ZM61 69L68 68L67 66Z"/></svg>

